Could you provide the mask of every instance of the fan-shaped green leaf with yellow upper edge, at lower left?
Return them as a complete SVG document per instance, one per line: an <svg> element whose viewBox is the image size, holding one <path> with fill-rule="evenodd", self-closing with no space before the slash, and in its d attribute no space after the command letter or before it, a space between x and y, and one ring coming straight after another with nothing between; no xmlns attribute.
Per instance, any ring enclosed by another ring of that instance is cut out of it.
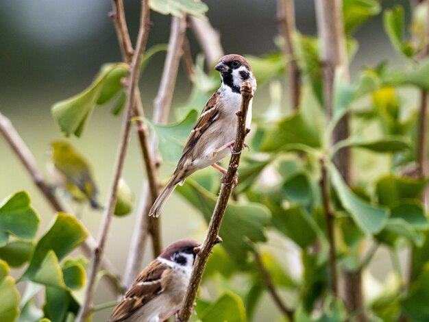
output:
<svg viewBox="0 0 429 322"><path fill-rule="evenodd" d="M31 280L41 269L42 262L50 251L53 251L58 261L60 261L75 247L84 242L87 236L88 232L74 216L58 212L51 228L38 241L32 261L23 277Z"/></svg>

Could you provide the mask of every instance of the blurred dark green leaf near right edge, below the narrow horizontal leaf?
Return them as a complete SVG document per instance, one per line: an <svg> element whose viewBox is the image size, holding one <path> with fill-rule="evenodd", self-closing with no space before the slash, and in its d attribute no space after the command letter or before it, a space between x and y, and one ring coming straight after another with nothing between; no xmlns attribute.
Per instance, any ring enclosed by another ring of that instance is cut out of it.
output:
<svg viewBox="0 0 429 322"><path fill-rule="evenodd" d="M419 199L427 181L387 175L376 182L378 203L392 206L402 199Z"/></svg>

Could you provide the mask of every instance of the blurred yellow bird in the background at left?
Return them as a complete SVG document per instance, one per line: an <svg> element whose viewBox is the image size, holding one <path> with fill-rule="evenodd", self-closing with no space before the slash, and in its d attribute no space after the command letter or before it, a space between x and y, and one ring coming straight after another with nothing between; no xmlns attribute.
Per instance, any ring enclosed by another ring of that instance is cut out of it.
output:
<svg viewBox="0 0 429 322"><path fill-rule="evenodd" d="M51 147L48 169L53 184L63 188L75 201L89 201L92 208L101 209L97 202L97 186L84 156L65 141L53 142Z"/></svg>

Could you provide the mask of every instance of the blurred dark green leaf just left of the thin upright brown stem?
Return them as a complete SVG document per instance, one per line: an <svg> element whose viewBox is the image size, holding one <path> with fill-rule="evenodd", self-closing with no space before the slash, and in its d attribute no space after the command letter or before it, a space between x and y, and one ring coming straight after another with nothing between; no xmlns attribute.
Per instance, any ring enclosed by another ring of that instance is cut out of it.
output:
<svg viewBox="0 0 429 322"><path fill-rule="evenodd" d="M282 212L273 212L281 226L275 225L281 232L291 238L299 247L313 245L317 238L317 224L303 208L292 207ZM302 232L306 232L302 234Z"/></svg>

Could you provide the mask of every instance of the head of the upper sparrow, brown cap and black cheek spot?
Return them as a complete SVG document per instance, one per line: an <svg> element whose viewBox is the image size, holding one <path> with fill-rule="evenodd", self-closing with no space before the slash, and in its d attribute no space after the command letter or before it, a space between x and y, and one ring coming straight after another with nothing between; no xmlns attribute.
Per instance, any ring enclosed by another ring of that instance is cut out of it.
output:
<svg viewBox="0 0 429 322"><path fill-rule="evenodd" d="M215 69L221 73L222 86L228 86L232 92L241 94L241 84L250 82L253 90L256 90L256 78L252 73L249 62L241 55L223 56Z"/></svg>

